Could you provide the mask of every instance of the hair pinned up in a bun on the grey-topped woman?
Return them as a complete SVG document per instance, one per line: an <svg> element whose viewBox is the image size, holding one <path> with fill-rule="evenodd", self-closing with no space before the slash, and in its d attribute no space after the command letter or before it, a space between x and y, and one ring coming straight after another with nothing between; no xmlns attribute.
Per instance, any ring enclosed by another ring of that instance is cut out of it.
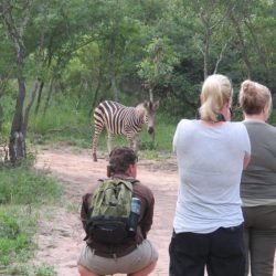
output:
<svg viewBox="0 0 276 276"><path fill-rule="evenodd" d="M242 83L238 102L248 115L261 114L266 105L272 109L270 91L266 86L250 79Z"/></svg>

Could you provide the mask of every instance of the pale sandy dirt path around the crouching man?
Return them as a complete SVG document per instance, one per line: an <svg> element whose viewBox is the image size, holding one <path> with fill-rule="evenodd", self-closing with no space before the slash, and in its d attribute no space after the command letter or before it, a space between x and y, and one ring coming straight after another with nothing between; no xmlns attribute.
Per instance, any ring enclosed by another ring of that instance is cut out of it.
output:
<svg viewBox="0 0 276 276"><path fill-rule="evenodd" d="M50 208L40 222L39 253L35 264L53 265L59 276L76 276L76 259L84 244L78 217L82 195L89 185L106 174L107 161L93 162L89 151L74 151L63 147L40 149L36 168L47 169L63 181L65 195L61 206ZM177 199L178 173L176 160L139 160L138 179L156 197L155 220L149 238L159 251L159 262L151 275L168 275L168 246Z"/></svg>

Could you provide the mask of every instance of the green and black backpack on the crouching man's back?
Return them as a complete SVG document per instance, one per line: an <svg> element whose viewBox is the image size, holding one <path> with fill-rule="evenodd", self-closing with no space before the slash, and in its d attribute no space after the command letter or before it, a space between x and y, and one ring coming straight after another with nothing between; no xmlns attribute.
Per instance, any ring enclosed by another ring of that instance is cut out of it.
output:
<svg viewBox="0 0 276 276"><path fill-rule="evenodd" d="M106 244L120 244L129 237L129 215L132 183L120 179L106 179L93 195L86 224L87 237Z"/></svg>

